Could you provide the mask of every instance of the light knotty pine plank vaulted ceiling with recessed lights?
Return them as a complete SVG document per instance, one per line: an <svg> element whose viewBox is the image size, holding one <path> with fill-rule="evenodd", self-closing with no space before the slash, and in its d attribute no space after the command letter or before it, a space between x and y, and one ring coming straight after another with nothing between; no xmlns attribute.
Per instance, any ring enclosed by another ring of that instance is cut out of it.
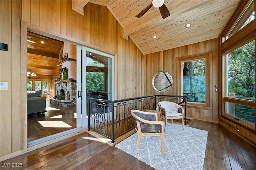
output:
<svg viewBox="0 0 256 170"><path fill-rule="evenodd" d="M170 12L165 19L154 7L136 18L152 0L72 0L72 8L82 14L88 2L106 6L123 27L123 36L130 37L143 54L218 37L238 4L238 0L165 0ZM186 23L192 26L186 28Z"/></svg>

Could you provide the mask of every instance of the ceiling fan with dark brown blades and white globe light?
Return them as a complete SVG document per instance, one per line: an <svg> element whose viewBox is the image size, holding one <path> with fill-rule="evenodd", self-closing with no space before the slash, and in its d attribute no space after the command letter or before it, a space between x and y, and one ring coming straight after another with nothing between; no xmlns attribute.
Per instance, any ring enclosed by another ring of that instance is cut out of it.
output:
<svg viewBox="0 0 256 170"><path fill-rule="evenodd" d="M148 5L144 10L142 10L138 15L136 15L137 18L142 17L148 10L154 6L155 8L159 8L162 18L166 18L170 16L170 12L168 8L164 4L164 0L152 0L152 3Z"/></svg>

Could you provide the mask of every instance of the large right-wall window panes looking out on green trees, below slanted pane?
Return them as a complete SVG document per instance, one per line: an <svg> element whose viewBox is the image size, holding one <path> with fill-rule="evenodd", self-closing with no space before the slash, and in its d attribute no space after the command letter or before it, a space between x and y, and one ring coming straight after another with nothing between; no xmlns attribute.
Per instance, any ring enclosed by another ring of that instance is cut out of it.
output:
<svg viewBox="0 0 256 170"><path fill-rule="evenodd" d="M255 101L254 55L254 40L226 54L226 97L234 101L225 101L226 114L253 125L255 124L254 107L248 106L251 102L245 102L244 105L238 102Z"/></svg>

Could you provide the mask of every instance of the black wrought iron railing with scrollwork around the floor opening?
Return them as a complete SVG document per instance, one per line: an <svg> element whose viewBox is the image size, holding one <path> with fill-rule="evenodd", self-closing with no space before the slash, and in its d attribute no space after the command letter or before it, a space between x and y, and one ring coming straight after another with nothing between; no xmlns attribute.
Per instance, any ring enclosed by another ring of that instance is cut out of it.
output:
<svg viewBox="0 0 256 170"><path fill-rule="evenodd" d="M112 139L114 143L114 139L136 127L131 110L154 110L157 103L161 101L170 101L184 106L184 123L186 124L186 96L152 95L114 101L88 98L88 130L96 131Z"/></svg>

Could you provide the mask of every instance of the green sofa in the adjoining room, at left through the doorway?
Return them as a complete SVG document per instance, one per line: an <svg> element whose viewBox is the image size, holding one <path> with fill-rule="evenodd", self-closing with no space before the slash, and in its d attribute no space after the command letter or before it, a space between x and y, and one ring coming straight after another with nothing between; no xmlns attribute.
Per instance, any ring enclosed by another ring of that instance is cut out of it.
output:
<svg viewBox="0 0 256 170"><path fill-rule="evenodd" d="M28 114L46 112L46 96L41 97L42 90L28 92Z"/></svg>

